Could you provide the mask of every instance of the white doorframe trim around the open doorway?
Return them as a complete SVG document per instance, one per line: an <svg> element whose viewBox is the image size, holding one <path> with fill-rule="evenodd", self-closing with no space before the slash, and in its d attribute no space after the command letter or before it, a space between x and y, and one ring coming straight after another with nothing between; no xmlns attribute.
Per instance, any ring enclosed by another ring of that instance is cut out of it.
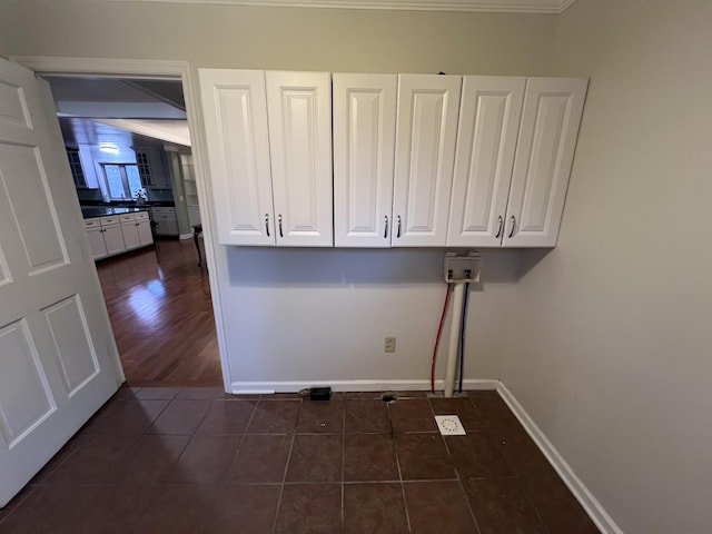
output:
<svg viewBox="0 0 712 534"><path fill-rule="evenodd" d="M222 322L221 295L218 284L217 257L212 241L212 202L210 199L209 172L207 168L207 144L202 125L202 110L198 98L197 70L189 61L180 60L146 60L146 59L112 59L112 58L73 58L51 56L10 56L13 61L26 67L37 76L106 76L132 78L172 78L182 83L188 129L190 130L191 152L196 161L196 186L202 224L206 265L216 276L209 277L215 330L222 370L222 386L230 390L230 367L227 357L225 323ZM205 220L204 220L205 219ZM118 352L116 353L119 369L122 369ZM121 373L122 374L122 373Z"/></svg>

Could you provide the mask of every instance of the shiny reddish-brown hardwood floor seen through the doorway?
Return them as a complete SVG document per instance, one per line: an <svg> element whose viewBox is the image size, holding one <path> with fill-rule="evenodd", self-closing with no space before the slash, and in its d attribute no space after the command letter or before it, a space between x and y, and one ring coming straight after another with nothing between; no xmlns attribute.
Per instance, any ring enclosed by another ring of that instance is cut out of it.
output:
<svg viewBox="0 0 712 534"><path fill-rule="evenodd" d="M220 386L210 286L192 239L100 261L101 288L131 386Z"/></svg>

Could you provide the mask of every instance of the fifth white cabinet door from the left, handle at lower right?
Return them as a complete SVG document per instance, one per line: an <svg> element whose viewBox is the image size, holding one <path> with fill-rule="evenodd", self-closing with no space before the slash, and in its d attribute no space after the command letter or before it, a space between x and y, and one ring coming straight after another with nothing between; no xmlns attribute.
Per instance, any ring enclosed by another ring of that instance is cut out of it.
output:
<svg viewBox="0 0 712 534"><path fill-rule="evenodd" d="M463 80L448 247L498 247L510 196L526 78Z"/></svg>

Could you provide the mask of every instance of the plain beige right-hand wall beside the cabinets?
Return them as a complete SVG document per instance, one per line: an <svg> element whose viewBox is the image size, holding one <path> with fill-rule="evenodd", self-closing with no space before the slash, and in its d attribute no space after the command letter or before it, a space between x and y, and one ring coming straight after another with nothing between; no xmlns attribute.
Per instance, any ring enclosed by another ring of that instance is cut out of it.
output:
<svg viewBox="0 0 712 534"><path fill-rule="evenodd" d="M551 72L591 86L506 342L504 383L627 534L712 528L711 21L693 0L561 17Z"/></svg>

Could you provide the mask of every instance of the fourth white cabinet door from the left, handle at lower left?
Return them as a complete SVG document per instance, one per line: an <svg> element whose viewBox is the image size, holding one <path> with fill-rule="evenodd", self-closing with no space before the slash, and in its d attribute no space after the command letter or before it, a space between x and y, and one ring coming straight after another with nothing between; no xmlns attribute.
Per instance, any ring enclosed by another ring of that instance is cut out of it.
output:
<svg viewBox="0 0 712 534"><path fill-rule="evenodd" d="M445 246L462 77L400 75L390 243Z"/></svg>

